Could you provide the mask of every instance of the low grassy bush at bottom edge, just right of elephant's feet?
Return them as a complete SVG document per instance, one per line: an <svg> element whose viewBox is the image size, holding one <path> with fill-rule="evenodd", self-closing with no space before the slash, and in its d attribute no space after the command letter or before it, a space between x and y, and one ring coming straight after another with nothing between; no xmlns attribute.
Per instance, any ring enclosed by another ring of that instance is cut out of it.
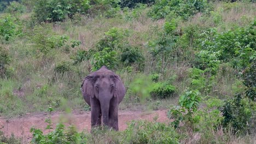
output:
<svg viewBox="0 0 256 144"><path fill-rule="evenodd" d="M179 143L179 135L164 123L132 121L125 134L129 143Z"/></svg>

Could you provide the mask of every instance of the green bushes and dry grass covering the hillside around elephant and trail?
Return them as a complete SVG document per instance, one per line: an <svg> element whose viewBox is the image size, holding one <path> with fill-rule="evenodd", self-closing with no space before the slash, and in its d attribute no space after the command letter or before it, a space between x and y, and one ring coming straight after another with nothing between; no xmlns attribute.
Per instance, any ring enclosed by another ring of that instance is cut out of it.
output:
<svg viewBox="0 0 256 144"><path fill-rule="evenodd" d="M256 139L254 1L21 0L0 11L1 117L88 111L81 82L107 65L127 88L121 110L167 109L172 119L92 134L59 123L46 135L31 128L32 143ZM0 129L0 143L20 139Z"/></svg>

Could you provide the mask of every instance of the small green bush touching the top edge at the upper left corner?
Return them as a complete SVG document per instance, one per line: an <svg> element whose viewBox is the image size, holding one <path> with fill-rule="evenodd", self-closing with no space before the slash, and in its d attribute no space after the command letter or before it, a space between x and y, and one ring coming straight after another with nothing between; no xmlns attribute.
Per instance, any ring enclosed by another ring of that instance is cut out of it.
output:
<svg viewBox="0 0 256 144"><path fill-rule="evenodd" d="M26 12L26 7L25 5L13 1L10 2L10 5L5 9L6 13L14 14L14 13L25 13Z"/></svg>

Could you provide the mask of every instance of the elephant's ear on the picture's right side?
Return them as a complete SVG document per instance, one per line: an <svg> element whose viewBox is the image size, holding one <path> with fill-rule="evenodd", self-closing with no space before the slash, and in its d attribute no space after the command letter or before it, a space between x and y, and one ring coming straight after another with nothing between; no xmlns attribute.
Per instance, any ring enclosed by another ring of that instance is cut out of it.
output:
<svg viewBox="0 0 256 144"><path fill-rule="evenodd" d="M118 75L115 75L115 88L114 88L114 97L118 97L119 103L123 100L126 93L123 82L121 81Z"/></svg>

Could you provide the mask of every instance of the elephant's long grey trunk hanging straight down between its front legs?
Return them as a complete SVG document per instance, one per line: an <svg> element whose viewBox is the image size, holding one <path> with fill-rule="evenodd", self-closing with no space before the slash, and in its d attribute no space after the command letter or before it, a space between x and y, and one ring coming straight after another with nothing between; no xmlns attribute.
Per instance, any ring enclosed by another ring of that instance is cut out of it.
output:
<svg viewBox="0 0 256 144"><path fill-rule="evenodd" d="M99 100L101 103L102 121L103 125L109 126L109 103L110 103L110 92L99 94Z"/></svg>

